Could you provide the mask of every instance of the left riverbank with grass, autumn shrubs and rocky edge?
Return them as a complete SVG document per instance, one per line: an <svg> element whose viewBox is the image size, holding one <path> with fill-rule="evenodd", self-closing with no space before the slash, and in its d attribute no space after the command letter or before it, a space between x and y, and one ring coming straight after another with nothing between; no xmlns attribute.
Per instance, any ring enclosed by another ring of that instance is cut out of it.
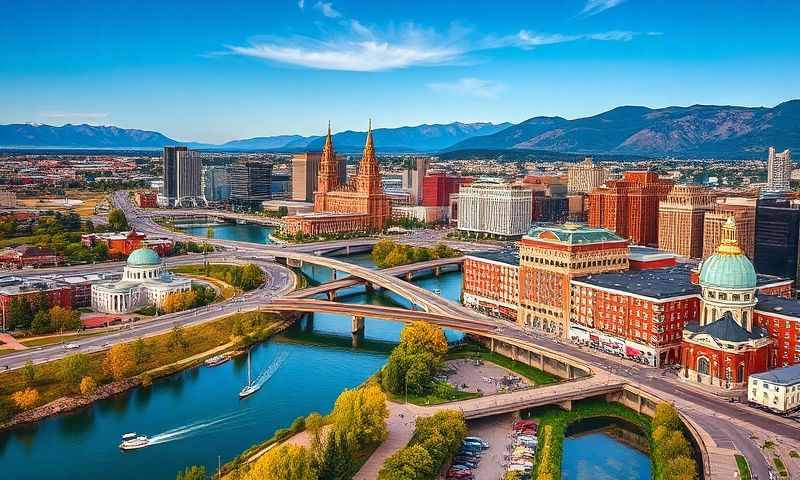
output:
<svg viewBox="0 0 800 480"><path fill-rule="evenodd" d="M169 333L117 345L114 349L121 353L113 359L112 350L79 353L4 373L0 375L0 420L5 422L0 424L0 430L87 406L143 383L147 385L153 378L193 367L208 356L262 342L291 323L293 320L261 312L238 313L185 330L176 328ZM115 373L120 371L125 378L115 378ZM83 383L85 378L98 387L78 394L81 388L69 379ZM31 389L37 392L38 405L22 408L13 396Z"/></svg>

